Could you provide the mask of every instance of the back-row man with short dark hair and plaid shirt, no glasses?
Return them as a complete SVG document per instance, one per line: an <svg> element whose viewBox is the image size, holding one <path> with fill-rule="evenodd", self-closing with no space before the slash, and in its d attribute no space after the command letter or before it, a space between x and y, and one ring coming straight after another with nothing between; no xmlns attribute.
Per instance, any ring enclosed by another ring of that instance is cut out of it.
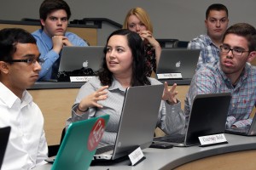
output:
<svg viewBox="0 0 256 170"><path fill-rule="evenodd" d="M214 3L207 8L205 26L207 34L196 37L188 44L190 49L201 49L198 70L201 65L218 61L219 45L229 24L229 12L223 4Z"/></svg>

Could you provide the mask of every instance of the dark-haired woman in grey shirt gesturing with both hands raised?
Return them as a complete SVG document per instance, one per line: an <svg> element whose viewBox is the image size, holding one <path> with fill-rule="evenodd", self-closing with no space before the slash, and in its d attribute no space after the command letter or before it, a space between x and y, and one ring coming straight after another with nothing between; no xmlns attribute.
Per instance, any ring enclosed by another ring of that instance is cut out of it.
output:
<svg viewBox="0 0 256 170"><path fill-rule="evenodd" d="M90 117L109 114L110 120L102 138L106 144L114 144L125 97L125 89L134 86L160 84L146 77L144 45L134 31L118 30L108 37L104 50L102 69L98 77L91 78L79 90L67 125ZM183 133L184 116L177 101L176 84L165 89L156 126L168 134Z"/></svg>

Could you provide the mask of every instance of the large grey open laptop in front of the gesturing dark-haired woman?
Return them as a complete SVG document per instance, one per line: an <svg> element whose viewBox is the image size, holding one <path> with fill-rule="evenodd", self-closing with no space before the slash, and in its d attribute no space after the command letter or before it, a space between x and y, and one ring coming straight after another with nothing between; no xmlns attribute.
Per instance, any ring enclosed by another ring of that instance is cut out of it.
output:
<svg viewBox="0 0 256 170"><path fill-rule="evenodd" d="M115 160L128 156L138 147L148 148L154 138L163 90L163 84L126 89L115 144L99 147L96 160ZM109 146L111 150L100 153Z"/></svg>

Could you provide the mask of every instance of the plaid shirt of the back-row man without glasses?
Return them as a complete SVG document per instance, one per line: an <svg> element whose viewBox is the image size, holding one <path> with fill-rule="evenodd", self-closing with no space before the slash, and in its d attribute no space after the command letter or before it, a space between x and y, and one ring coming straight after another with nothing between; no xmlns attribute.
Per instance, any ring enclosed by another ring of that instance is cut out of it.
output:
<svg viewBox="0 0 256 170"><path fill-rule="evenodd" d="M216 62L219 59L219 48L214 45L211 38L207 35L201 35L193 39L189 42L188 48L201 49L196 71L199 70L201 65Z"/></svg>

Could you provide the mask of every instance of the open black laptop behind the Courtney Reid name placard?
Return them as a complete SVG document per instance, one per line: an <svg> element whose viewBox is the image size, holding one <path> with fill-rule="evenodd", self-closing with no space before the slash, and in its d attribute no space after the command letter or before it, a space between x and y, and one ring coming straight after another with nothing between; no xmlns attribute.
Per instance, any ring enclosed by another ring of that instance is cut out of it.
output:
<svg viewBox="0 0 256 170"><path fill-rule="evenodd" d="M224 133L230 99L230 93L197 94L193 100L186 133L159 137L154 141L190 146L200 144L200 136Z"/></svg>

